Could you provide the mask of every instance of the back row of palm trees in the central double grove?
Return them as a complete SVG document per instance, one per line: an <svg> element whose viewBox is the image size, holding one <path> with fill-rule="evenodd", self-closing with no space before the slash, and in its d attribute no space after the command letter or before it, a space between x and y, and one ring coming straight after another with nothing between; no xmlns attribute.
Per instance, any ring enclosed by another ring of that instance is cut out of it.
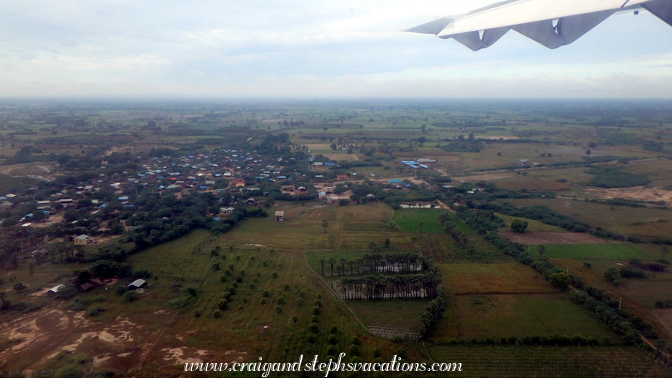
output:
<svg viewBox="0 0 672 378"><path fill-rule="evenodd" d="M329 274L334 275L361 275L361 274L409 274L430 270L432 262L425 256L415 253L364 254L355 260L336 260L335 258L320 259L322 275L325 275L325 265L329 267ZM334 273L336 268L336 273Z"/></svg>

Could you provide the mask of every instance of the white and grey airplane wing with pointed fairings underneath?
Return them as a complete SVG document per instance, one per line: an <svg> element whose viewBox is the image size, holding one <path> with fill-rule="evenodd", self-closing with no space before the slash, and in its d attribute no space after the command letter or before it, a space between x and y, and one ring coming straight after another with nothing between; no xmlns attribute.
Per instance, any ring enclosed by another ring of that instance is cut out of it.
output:
<svg viewBox="0 0 672 378"><path fill-rule="evenodd" d="M453 38L478 51L513 29L556 49L576 41L616 12L642 8L672 26L672 0L507 0L407 31Z"/></svg>

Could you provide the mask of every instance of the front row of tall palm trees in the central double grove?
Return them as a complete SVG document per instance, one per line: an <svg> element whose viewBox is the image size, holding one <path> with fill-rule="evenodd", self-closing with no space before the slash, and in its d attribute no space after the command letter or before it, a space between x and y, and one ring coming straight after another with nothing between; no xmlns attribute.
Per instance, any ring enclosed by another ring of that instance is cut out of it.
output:
<svg viewBox="0 0 672 378"><path fill-rule="evenodd" d="M333 284L344 299L435 298L441 275L438 270L393 276L377 274L342 278Z"/></svg>

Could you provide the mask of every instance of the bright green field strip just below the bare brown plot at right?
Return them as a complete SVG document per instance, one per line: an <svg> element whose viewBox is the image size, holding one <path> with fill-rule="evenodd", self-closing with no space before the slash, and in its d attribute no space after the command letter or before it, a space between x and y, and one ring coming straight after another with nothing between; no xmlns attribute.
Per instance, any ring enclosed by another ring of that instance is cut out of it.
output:
<svg viewBox="0 0 672 378"><path fill-rule="evenodd" d="M536 249L532 247L535 251ZM650 260L656 257L650 249L632 243L550 244L544 256L577 260Z"/></svg>

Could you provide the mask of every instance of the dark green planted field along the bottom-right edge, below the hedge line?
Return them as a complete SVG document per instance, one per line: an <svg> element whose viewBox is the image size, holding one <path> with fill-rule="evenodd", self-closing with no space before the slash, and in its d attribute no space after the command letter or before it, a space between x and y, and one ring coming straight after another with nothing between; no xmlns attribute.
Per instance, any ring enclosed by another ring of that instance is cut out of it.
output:
<svg viewBox="0 0 672 378"><path fill-rule="evenodd" d="M434 346L435 361L462 363L460 377L669 378L672 371L636 347Z"/></svg>

